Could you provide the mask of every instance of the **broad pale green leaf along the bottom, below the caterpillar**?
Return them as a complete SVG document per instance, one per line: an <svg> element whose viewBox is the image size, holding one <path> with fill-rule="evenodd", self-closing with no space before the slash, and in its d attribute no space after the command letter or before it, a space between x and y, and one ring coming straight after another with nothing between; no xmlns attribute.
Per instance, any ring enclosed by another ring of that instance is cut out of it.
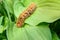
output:
<svg viewBox="0 0 60 40"><path fill-rule="evenodd" d="M48 24L31 26L25 24L22 28L17 28L11 23L7 29L8 40L52 40Z"/></svg>

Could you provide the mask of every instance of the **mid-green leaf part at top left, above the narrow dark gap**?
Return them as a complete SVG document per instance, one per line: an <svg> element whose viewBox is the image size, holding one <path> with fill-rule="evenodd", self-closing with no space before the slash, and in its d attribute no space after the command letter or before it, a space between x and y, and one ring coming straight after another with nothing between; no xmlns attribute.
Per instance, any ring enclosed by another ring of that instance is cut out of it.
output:
<svg viewBox="0 0 60 40"><path fill-rule="evenodd" d="M4 7L6 11L9 11L10 13L13 13L13 0L3 0Z"/></svg>

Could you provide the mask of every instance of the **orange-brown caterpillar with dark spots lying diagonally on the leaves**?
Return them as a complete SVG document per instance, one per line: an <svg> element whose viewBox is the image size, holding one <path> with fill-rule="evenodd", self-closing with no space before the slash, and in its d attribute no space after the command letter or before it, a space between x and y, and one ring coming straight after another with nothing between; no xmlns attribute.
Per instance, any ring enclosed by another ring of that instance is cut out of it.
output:
<svg viewBox="0 0 60 40"><path fill-rule="evenodd" d="M25 11L23 11L18 17L16 22L17 27L21 27L24 24L25 19L28 18L35 9L36 9L35 3L31 3L31 5L29 5L29 7Z"/></svg>

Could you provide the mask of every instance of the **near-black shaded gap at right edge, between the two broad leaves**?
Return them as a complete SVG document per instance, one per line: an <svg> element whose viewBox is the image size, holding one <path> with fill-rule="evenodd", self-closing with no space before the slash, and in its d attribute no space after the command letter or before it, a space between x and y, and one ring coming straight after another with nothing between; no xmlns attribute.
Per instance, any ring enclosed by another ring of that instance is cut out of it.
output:
<svg viewBox="0 0 60 40"><path fill-rule="evenodd" d="M58 34L60 37L60 19L50 24L50 29Z"/></svg>

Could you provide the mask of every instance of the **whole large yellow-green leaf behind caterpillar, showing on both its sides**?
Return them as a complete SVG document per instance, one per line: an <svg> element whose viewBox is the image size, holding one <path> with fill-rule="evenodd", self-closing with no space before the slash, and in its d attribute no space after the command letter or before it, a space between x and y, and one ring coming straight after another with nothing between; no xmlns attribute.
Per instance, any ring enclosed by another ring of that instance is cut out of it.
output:
<svg viewBox="0 0 60 40"><path fill-rule="evenodd" d="M37 25L41 22L52 23L60 18L60 0L23 0L24 6L21 2L15 4L17 6L14 6L14 10L17 10L15 14L19 16L22 10L25 10L32 2L36 4L37 9L26 19L25 23L30 25Z"/></svg>

